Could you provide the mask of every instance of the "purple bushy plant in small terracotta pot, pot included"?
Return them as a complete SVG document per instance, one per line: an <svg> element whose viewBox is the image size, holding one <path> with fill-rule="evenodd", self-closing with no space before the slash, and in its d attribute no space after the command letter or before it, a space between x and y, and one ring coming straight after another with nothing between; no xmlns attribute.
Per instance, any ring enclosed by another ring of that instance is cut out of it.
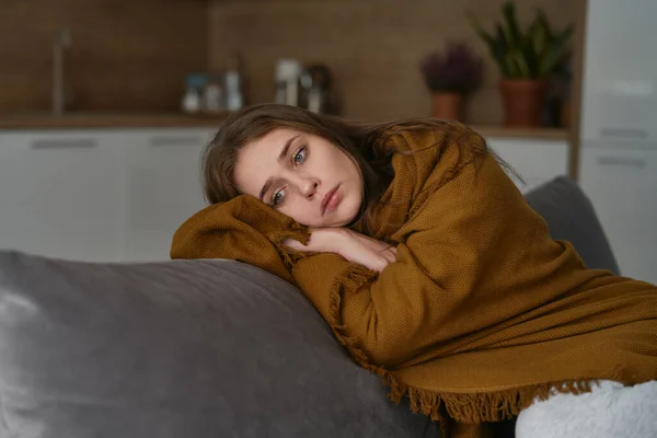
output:
<svg viewBox="0 0 657 438"><path fill-rule="evenodd" d="M463 101L480 83L482 62L462 43L448 43L420 61L424 81L431 92L431 117L461 120Z"/></svg>

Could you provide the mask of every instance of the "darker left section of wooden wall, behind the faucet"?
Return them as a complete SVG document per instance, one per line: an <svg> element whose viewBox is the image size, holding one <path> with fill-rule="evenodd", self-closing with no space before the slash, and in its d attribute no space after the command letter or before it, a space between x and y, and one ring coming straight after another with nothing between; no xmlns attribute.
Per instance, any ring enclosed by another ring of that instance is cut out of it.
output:
<svg viewBox="0 0 657 438"><path fill-rule="evenodd" d="M1 0L0 113L50 107L51 45L69 27L80 111L176 111L183 78L207 67L198 0Z"/></svg>

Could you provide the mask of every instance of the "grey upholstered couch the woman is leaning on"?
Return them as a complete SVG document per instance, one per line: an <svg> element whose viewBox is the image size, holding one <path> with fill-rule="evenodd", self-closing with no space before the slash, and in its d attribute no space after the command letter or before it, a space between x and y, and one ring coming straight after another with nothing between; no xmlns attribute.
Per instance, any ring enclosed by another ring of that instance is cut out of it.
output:
<svg viewBox="0 0 657 438"><path fill-rule="evenodd" d="M526 198L589 267L619 272L574 182ZM298 289L256 267L0 252L2 438L440 435L385 393Z"/></svg>

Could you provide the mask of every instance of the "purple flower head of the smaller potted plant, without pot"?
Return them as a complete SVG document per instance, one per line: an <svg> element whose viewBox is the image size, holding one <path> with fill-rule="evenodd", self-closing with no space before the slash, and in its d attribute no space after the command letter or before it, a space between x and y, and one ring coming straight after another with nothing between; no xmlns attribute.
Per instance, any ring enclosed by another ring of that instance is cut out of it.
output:
<svg viewBox="0 0 657 438"><path fill-rule="evenodd" d="M468 94L480 84L483 65L465 44L449 43L445 54L427 55L419 67L429 90Z"/></svg>

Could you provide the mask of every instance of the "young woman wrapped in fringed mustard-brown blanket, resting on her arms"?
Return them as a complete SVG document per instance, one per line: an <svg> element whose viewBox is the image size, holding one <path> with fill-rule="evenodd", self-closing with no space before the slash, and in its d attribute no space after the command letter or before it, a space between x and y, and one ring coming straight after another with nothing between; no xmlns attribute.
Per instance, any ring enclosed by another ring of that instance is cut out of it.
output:
<svg viewBox="0 0 657 438"><path fill-rule="evenodd" d="M657 288L586 269L460 124L250 107L209 145L205 189L172 257L296 284L393 400L445 431L657 379Z"/></svg>

